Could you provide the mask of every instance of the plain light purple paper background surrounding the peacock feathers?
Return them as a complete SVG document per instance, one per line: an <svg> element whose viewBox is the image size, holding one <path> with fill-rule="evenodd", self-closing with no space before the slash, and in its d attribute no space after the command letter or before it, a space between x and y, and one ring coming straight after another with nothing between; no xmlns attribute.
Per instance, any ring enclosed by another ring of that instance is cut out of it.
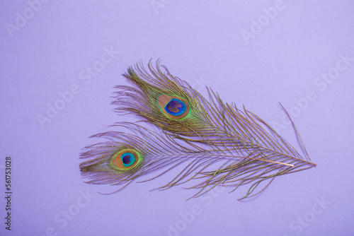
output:
<svg viewBox="0 0 354 236"><path fill-rule="evenodd" d="M37 11L28 10L30 3ZM265 12L275 6L269 18ZM353 1L2 1L0 235L353 235L353 7ZM16 26L16 13L27 22ZM253 32L249 40L246 31ZM105 48L119 53L89 81L85 70L99 64ZM110 95L114 85L127 84L120 74L128 66L151 58L203 95L207 85L225 102L245 105L294 143L282 102L318 167L275 179L251 201L236 201L245 189L221 188L190 201L195 191L181 187L149 191L172 173L97 194L114 188L84 184L80 149L94 142L92 134L110 130L106 125L131 119L111 111ZM336 78L324 82L318 78L324 73ZM38 114L72 86L79 93L41 126ZM13 160L11 232L3 223L6 155ZM88 200L81 198L86 192ZM64 211L71 212L67 223Z"/></svg>

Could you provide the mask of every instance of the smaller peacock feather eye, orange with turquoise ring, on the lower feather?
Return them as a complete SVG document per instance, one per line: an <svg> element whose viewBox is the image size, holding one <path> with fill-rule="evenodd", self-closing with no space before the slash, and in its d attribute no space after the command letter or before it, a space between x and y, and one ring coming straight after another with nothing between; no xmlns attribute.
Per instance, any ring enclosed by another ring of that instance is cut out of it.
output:
<svg viewBox="0 0 354 236"><path fill-rule="evenodd" d="M130 149L125 149L113 155L110 166L118 170L130 170L140 161L139 154Z"/></svg>

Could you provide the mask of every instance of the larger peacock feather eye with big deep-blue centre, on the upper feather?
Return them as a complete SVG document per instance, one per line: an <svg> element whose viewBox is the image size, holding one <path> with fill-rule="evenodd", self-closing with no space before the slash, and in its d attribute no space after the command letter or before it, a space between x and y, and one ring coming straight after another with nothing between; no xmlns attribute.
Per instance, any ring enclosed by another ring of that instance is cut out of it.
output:
<svg viewBox="0 0 354 236"><path fill-rule="evenodd" d="M172 95L159 95L157 104L162 112L171 119L183 119L189 114L189 104L183 98Z"/></svg>

